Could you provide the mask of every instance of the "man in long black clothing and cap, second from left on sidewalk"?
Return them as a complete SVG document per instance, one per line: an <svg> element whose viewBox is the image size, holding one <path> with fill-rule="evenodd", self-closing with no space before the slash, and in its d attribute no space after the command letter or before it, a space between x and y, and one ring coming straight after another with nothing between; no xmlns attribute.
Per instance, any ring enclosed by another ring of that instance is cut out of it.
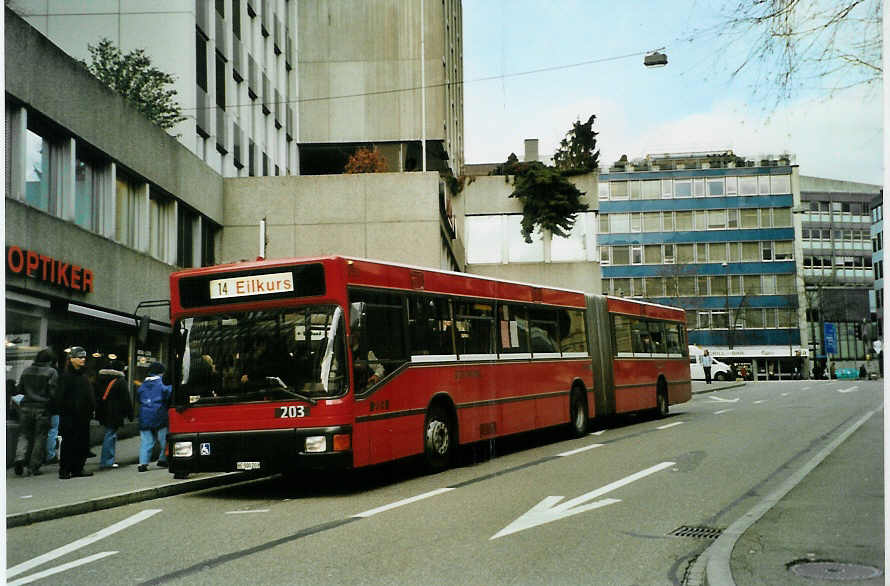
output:
<svg viewBox="0 0 890 586"><path fill-rule="evenodd" d="M95 410L95 397L84 368L87 352L74 346L68 353L68 364L59 384L59 431L65 438L59 460L59 478L92 476L83 465L90 452L90 421Z"/></svg>

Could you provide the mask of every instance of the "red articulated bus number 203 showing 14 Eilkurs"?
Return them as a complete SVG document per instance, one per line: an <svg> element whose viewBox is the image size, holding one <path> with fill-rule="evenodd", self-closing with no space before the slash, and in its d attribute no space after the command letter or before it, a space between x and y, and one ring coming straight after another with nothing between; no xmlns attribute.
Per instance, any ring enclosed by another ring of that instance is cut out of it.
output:
<svg viewBox="0 0 890 586"><path fill-rule="evenodd" d="M357 468L691 396L682 309L339 256L170 277L170 470Z"/></svg>

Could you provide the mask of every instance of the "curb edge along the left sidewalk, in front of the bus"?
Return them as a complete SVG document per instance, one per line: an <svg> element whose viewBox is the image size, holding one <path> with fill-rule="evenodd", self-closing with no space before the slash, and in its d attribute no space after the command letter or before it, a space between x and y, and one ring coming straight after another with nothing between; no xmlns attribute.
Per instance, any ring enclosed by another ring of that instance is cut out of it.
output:
<svg viewBox="0 0 890 586"><path fill-rule="evenodd" d="M71 503L56 507L47 507L45 509L37 509L36 511L28 511L26 513L17 513L6 517L6 528L21 527L23 525L31 525L42 521L51 521L62 517L70 517L72 515L81 515L83 513L91 513L102 509L111 509L114 507L122 507L133 503L148 501L186 492L203 490L205 488L214 488L226 484L233 484L242 480L253 480L259 477L254 472L225 472L223 474L210 476L208 478L196 478L195 480L179 481L176 484L165 484L152 488L134 490L111 496L100 497L79 503Z"/></svg>

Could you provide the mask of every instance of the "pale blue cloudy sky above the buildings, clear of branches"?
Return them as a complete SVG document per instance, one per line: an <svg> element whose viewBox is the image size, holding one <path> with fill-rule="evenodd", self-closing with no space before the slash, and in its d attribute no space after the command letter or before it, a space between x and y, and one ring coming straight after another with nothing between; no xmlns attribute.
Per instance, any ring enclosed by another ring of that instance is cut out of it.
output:
<svg viewBox="0 0 890 586"><path fill-rule="evenodd" d="M882 184L882 88L830 95L813 82L778 107L760 101L763 71L733 80L736 54L713 35L689 40L722 4L464 0L466 162L522 159L526 138L549 155L573 121L595 114L601 167L622 154L731 148L790 152L802 175ZM645 68L643 53L660 47L668 65Z"/></svg>

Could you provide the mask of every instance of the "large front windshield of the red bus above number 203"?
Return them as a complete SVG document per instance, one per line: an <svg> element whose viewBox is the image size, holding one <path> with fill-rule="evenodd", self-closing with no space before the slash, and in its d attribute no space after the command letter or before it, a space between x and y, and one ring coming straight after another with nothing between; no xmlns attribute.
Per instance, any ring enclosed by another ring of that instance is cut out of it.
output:
<svg viewBox="0 0 890 586"><path fill-rule="evenodd" d="M190 317L174 331L182 348L178 405L314 403L348 389L343 310L337 306Z"/></svg>

